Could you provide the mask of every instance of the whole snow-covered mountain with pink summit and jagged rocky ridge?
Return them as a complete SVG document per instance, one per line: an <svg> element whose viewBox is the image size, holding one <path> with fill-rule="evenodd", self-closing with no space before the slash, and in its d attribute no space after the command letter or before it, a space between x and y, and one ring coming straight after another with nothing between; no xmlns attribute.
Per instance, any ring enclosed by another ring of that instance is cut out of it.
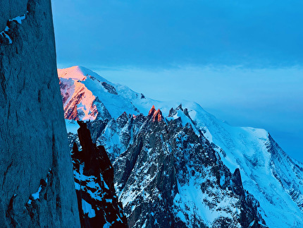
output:
<svg viewBox="0 0 303 228"><path fill-rule="evenodd" d="M267 131L229 126L195 102L149 99L87 68L58 76L68 131L76 138L73 120L89 121L130 226L303 226L303 164Z"/></svg>

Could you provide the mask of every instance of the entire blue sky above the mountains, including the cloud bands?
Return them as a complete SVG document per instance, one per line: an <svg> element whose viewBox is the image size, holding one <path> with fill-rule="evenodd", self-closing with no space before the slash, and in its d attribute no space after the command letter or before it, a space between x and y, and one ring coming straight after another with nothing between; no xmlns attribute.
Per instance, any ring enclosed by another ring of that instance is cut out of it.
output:
<svg viewBox="0 0 303 228"><path fill-rule="evenodd" d="M303 162L303 1L52 3L59 67L266 128Z"/></svg>

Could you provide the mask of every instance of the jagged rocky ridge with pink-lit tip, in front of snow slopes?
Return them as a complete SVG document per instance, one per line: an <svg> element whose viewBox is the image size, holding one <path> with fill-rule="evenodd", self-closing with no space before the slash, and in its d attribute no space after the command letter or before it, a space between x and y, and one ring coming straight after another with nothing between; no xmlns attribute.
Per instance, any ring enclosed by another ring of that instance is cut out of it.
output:
<svg viewBox="0 0 303 228"><path fill-rule="evenodd" d="M129 225L266 227L239 169L232 174L190 124L158 117L154 107L148 116L129 116L130 132L140 131L113 163Z"/></svg>

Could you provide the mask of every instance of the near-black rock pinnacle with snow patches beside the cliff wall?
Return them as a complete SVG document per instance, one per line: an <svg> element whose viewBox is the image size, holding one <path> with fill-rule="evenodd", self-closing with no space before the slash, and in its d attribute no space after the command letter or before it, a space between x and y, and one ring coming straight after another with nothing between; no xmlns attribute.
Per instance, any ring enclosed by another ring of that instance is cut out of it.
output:
<svg viewBox="0 0 303 228"><path fill-rule="evenodd" d="M113 186L113 166L102 145L92 143L87 124L78 121L82 150L73 143L75 186L82 227L128 227Z"/></svg>

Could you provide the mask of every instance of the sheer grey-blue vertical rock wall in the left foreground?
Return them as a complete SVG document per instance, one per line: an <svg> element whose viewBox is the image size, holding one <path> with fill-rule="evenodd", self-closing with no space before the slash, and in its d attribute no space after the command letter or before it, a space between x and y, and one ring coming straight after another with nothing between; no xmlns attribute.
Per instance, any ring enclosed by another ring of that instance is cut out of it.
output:
<svg viewBox="0 0 303 228"><path fill-rule="evenodd" d="M79 227L50 0L0 2L0 227Z"/></svg>

